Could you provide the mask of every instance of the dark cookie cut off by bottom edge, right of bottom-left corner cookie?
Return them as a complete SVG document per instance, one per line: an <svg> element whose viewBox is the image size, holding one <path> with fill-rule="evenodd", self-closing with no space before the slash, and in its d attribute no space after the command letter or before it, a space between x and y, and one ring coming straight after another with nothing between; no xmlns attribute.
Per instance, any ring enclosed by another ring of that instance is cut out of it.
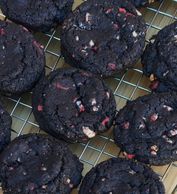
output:
<svg viewBox="0 0 177 194"><path fill-rule="evenodd" d="M164 186L149 167L130 160L112 158L92 168L79 194L165 194Z"/></svg>

